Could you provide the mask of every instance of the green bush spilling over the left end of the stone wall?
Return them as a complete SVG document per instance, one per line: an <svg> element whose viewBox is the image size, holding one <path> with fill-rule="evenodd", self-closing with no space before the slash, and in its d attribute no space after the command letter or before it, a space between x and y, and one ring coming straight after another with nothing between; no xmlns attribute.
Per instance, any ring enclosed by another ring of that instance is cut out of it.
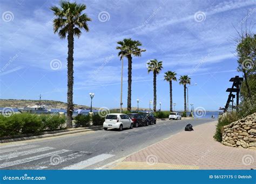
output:
<svg viewBox="0 0 256 184"><path fill-rule="evenodd" d="M223 116L218 119L218 124L216 125L216 131L214 134L214 139L221 142L223 126L235 122L239 119L237 112L226 112Z"/></svg>

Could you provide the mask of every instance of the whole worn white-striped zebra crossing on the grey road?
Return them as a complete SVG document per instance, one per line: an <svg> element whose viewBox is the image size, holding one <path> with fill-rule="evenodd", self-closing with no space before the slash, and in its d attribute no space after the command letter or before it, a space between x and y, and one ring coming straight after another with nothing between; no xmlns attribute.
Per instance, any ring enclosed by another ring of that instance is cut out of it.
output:
<svg viewBox="0 0 256 184"><path fill-rule="evenodd" d="M0 169L86 169L114 157L33 144L0 146Z"/></svg>

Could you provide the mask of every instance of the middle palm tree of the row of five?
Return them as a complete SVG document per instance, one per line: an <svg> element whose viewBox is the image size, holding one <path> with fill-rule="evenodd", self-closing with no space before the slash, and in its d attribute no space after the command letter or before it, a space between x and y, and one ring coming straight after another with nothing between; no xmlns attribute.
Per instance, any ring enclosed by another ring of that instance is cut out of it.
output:
<svg viewBox="0 0 256 184"><path fill-rule="evenodd" d="M147 72L153 72L153 85L154 85L154 112L157 109L157 74L160 73L163 68L163 61L157 61L157 59L151 59L150 62L147 62Z"/></svg>

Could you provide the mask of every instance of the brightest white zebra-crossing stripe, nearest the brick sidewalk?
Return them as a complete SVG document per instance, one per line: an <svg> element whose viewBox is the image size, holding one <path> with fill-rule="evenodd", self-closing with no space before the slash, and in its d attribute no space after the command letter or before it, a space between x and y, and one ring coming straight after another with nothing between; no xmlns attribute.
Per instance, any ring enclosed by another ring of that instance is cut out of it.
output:
<svg viewBox="0 0 256 184"><path fill-rule="evenodd" d="M88 167L90 165L96 164L97 162L109 159L113 156L114 156L113 154L100 154L100 155L97 155L96 157L92 157L92 158L89 158L87 160L80 161L77 164L74 164L74 165L71 165L71 166L68 166L68 167L64 167L62 169L70 169L70 170L83 169L83 168Z"/></svg>

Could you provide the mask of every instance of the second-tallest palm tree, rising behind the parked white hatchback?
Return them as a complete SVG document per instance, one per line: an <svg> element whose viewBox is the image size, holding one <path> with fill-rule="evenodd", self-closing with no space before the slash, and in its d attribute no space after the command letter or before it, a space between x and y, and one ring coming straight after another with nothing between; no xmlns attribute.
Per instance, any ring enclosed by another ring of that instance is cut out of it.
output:
<svg viewBox="0 0 256 184"><path fill-rule="evenodd" d="M127 110L131 111L132 100L132 55L142 56L142 52L145 49L140 49L138 46L142 46L142 43L138 40L132 40L131 38L125 38L123 41L118 41L117 49L120 50L118 56L120 60L125 56L128 59L128 93L127 93Z"/></svg>

